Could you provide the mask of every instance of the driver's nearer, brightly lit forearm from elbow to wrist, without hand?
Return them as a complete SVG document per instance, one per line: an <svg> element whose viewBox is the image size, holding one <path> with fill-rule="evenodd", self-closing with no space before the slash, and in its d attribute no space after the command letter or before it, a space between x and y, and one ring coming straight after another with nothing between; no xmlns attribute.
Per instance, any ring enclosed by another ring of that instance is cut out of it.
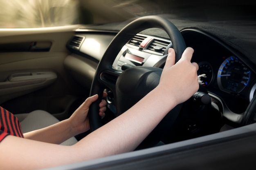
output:
<svg viewBox="0 0 256 170"><path fill-rule="evenodd" d="M124 114L89 134L74 146L90 159L134 150L176 105L161 89L154 89ZM88 149L88 148L87 148ZM83 152L84 150L84 152ZM88 150L87 150L88 152Z"/></svg>

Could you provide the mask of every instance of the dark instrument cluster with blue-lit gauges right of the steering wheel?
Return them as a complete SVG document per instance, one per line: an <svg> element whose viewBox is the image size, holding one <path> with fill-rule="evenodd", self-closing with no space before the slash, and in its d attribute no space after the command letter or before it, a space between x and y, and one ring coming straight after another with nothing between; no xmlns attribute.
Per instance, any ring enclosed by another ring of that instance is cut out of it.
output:
<svg viewBox="0 0 256 170"><path fill-rule="evenodd" d="M243 54L221 41L195 31L184 31L188 47L194 49L192 61L198 63L198 75L204 88L221 99L223 107L235 114L243 114L256 91L256 74Z"/></svg>

